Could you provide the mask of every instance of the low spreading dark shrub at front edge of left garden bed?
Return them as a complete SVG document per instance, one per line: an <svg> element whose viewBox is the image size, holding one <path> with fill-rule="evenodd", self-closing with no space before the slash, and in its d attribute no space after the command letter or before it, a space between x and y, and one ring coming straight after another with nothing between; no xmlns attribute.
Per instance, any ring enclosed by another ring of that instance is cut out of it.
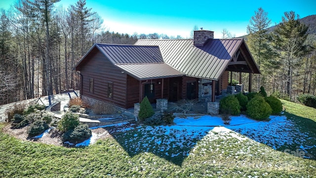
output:
<svg viewBox="0 0 316 178"><path fill-rule="evenodd" d="M91 130L86 124L79 124L74 130L70 130L63 135L63 141L69 141L71 143L79 143L92 135Z"/></svg>

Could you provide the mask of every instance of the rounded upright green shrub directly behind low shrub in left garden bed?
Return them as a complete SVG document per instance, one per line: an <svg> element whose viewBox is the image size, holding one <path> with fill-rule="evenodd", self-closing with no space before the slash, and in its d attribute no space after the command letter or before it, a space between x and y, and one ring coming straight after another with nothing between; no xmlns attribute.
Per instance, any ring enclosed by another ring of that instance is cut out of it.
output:
<svg viewBox="0 0 316 178"><path fill-rule="evenodd" d="M79 116L72 112L66 112L58 123L61 132L74 130L79 125Z"/></svg>

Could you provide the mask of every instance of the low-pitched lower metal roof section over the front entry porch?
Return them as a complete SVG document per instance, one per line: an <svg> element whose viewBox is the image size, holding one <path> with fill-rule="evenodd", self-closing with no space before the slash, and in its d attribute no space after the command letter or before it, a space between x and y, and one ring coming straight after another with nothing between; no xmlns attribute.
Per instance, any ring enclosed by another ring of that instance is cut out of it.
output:
<svg viewBox="0 0 316 178"><path fill-rule="evenodd" d="M184 75L166 63L116 64L116 66L140 80Z"/></svg>

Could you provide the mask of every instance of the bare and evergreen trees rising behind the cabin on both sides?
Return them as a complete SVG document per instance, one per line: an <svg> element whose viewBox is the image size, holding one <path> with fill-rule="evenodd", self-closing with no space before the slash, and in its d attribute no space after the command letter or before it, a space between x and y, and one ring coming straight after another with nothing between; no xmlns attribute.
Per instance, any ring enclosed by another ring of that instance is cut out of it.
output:
<svg viewBox="0 0 316 178"><path fill-rule="evenodd" d="M79 76L72 68L94 43L181 38L109 32L101 28L103 19L86 7L85 0L67 8L55 7L57 1L21 0L0 11L0 104L79 89ZM268 13L262 8L255 11L244 37L262 72L253 75L253 90L264 86L290 100L300 93L315 94L315 17L303 18L304 22L295 12L285 12L279 25L268 28ZM234 37L226 29L221 34ZM234 73L234 78L238 75ZM242 76L247 89L248 77Z"/></svg>

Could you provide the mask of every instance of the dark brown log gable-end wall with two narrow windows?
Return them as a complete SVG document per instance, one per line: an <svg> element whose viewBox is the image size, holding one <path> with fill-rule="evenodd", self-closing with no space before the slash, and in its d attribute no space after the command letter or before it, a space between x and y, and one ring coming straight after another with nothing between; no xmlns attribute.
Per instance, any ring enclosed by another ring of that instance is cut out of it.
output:
<svg viewBox="0 0 316 178"><path fill-rule="evenodd" d="M80 69L81 95L126 108L127 75L98 50L91 51L86 57L90 59ZM89 91L90 79L93 79L92 92ZM113 84L113 97L108 97L108 83Z"/></svg>

